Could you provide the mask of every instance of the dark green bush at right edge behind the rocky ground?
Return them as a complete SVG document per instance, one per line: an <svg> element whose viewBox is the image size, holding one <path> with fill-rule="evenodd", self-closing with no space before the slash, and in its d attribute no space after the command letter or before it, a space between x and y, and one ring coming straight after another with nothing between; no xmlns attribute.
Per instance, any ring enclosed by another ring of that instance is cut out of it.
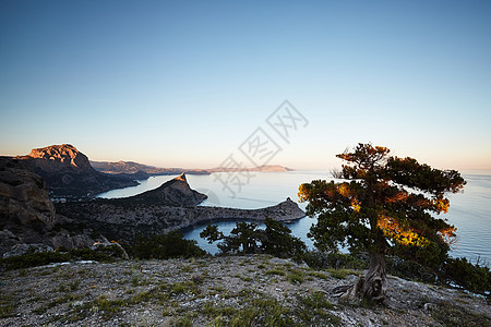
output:
<svg viewBox="0 0 491 327"><path fill-rule="evenodd" d="M466 258L448 258L443 269L443 278L447 282L455 282L471 292L490 295L491 272L488 267L472 265Z"/></svg>

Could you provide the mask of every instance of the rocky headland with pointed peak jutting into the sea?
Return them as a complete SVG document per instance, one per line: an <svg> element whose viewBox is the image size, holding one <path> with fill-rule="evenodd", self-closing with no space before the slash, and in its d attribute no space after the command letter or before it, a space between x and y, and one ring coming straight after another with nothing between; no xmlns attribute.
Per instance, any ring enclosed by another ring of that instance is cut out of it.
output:
<svg viewBox="0 0 491 327"><path fill-rule="evenodd" d="M206 195L191 190L185 175L156 190L127 198L57 204L57 210L86 223L111 240L131 242L137 234L151 235L214 220L256 220L266 217L291 221L306 216L296 203L285 202L261 209L195 206Z"/></svg>

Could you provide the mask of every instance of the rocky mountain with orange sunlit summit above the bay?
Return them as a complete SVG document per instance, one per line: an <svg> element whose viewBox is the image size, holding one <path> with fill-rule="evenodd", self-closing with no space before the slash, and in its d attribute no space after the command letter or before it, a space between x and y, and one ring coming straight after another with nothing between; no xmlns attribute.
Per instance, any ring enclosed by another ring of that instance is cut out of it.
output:
<svg viewBox="0 0 491 327"><path fill-rule="evenodd" d="M70 144L35 148L29 155L15 159L23 160L43 177L55 197L91 197L109 190L137 185L129 177L96 171L87 156Z"/></svg>

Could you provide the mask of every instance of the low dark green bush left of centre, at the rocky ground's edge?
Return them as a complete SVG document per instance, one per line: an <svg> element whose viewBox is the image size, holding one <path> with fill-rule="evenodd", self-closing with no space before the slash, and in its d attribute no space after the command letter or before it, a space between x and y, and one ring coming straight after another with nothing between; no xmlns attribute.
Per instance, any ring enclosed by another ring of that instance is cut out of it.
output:
<svg viewBox="0 0 491 327"><path fill-rule="evenodd" d="M196 257L206 253L196 245L196 241L184 240L182 233L139 237L133 244L132 253L137 258Z"/></svg>

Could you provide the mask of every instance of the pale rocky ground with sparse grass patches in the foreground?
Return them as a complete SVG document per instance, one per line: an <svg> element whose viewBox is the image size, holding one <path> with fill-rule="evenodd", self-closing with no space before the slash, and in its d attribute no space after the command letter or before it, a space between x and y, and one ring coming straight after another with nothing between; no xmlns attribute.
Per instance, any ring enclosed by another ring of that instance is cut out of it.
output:
<svg viewBox="0 0 491 327"><path fill-rule="evenodd" d="M486 299L397 277L388 305L340 303L360 272L265 255L12 270L0 326L491 326Z"/></svg>

